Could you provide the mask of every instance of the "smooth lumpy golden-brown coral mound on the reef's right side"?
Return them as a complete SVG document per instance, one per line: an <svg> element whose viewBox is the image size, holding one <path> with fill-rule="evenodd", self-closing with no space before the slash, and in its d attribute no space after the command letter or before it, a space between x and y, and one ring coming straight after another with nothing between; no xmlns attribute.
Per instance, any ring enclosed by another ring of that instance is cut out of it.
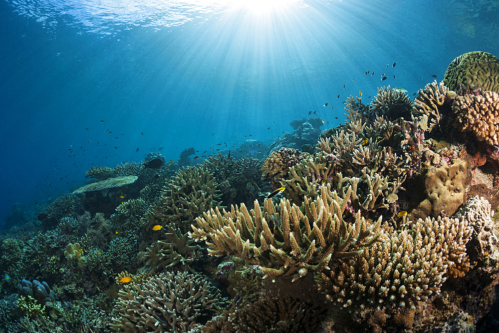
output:
<svg viewBox="0 0 499 333"><path fill-rule="evenodd" d="M409 219L452 216L466 201L466 185L471 180L468 162L458 158L449 166L428 165L424 171L424 200L409 214Z"/></svg>

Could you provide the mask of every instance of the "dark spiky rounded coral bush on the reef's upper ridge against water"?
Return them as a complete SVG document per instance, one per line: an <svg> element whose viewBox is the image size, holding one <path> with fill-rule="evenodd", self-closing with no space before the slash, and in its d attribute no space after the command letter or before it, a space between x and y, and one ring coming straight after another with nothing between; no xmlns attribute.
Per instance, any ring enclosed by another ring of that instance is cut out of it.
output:
<svg viewBox="0 0 499 333"><path fill-rule="evenodd" d="M378 88L378 94L371 102L371 112L384 115L389 120L410 115L412 102L405 91L388 87Z"/></svg>

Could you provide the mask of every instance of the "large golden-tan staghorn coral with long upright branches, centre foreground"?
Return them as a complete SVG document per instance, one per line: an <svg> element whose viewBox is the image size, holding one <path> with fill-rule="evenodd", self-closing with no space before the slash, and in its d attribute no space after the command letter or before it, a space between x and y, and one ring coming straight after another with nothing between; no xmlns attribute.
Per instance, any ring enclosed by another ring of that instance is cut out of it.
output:
<svg viewBox="0 0 499 333"><path fill-rule="evenodd" d="M233 255L259 265L265 277L295 281L321 271L332 257L356 256L377 240L381 218L370 226L360 212L354 223L343 219L349 198L350 189L342 200L322 185L316 200L305 197L305 213L285 199L279 205L265 199L263 211L257 200L251 211L244 204L223 215L211 209L196 219L198 228L192 225L189 237L205 240L212 256Z"/></svg>

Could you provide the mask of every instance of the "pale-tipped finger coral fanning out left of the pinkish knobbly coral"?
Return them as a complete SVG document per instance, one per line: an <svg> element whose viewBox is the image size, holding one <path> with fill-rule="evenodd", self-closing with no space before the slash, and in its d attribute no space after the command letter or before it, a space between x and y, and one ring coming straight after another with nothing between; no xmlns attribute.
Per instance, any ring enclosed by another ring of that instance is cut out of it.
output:
<svg viewBox="0 0 499 333"><path fill-rule="evenodd" d="M450 90L444 85L444 81L439 84L435 80L432 83L428 83L424 89L420 89L414 99L413 113L420 119L425 115L428 117L430 120L429 132L440 124L442 115L439 107L441 108L444 105L448 92Z"/></svg>

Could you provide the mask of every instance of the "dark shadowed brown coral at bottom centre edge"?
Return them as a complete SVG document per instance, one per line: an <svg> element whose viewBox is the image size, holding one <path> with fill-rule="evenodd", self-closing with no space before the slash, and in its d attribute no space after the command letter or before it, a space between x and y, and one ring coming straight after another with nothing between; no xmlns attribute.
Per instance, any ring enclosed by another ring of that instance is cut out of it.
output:
<svg viewBox="0 0 499 333"><path fill-rule="evenodd" d="M291 298L264 298L217 316L203 333L314 332L324 308Z"/></svg>

